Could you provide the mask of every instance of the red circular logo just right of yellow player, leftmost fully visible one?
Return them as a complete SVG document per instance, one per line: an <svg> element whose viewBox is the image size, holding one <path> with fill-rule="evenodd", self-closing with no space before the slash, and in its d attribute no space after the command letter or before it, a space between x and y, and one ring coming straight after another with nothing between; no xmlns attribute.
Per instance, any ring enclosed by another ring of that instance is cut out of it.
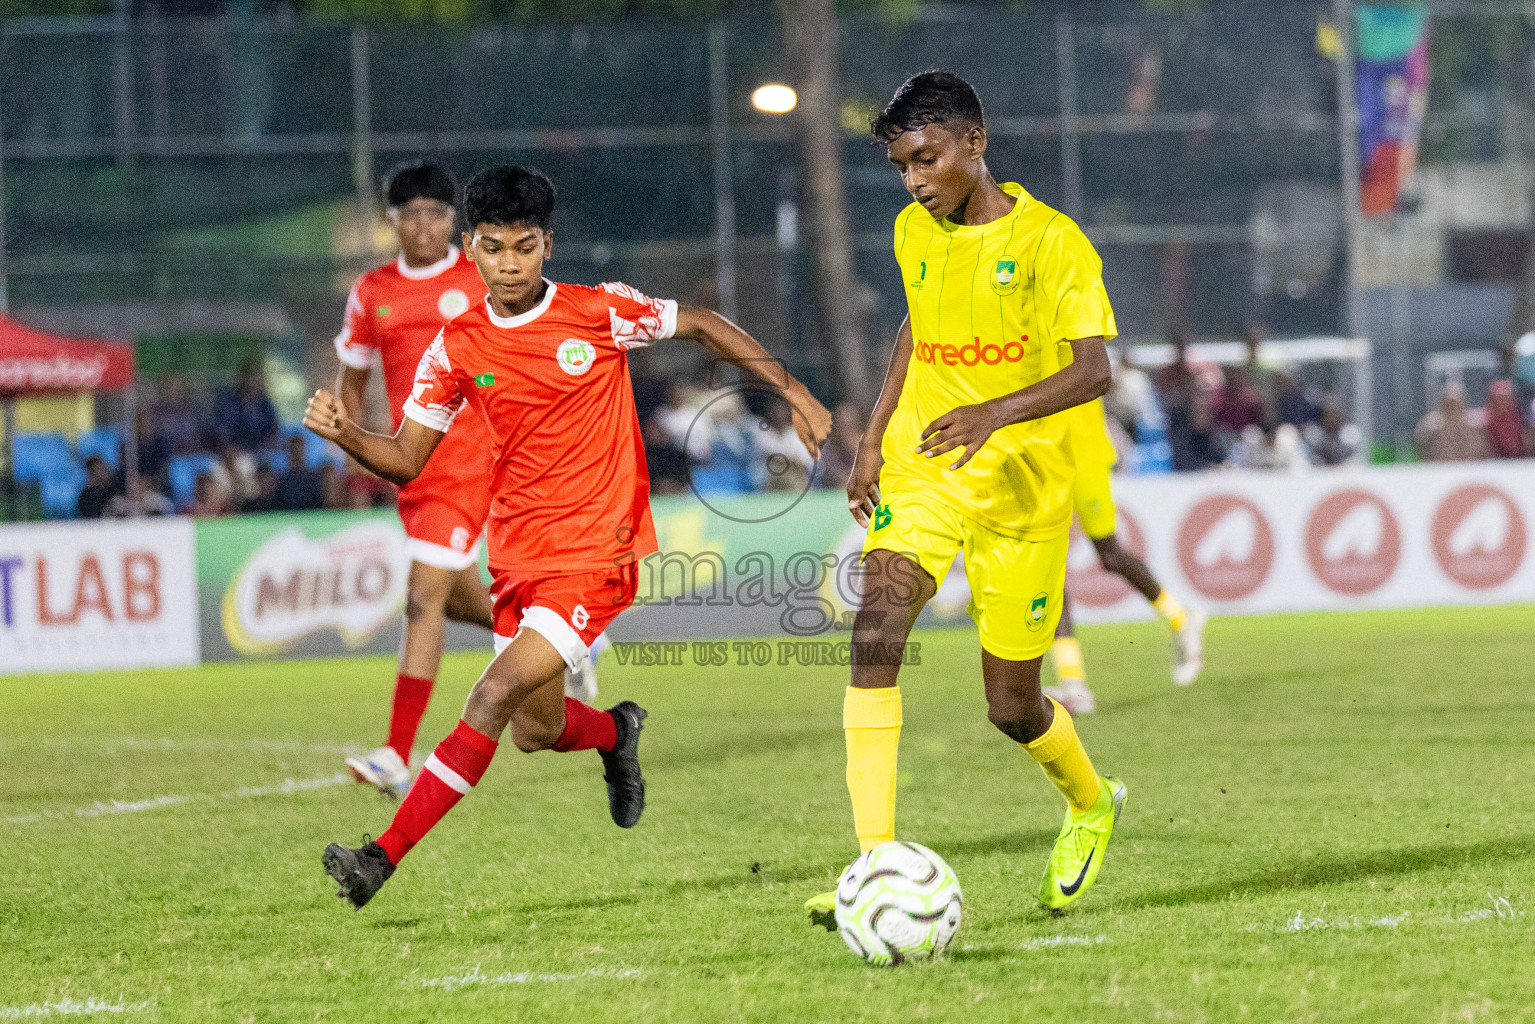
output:
<svg viewBox="0 0 1535 1024"><path fill-rule="evenodd" d="M1236 494L1202 499L1177 528L1177 560L1211 600L1242 600L1274 568L1274 531L1257 505Z"/></svg>

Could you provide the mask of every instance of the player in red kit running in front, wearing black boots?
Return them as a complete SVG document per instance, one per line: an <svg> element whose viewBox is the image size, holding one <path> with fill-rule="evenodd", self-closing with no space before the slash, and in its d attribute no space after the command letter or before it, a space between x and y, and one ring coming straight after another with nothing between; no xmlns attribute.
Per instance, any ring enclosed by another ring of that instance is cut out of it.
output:
<svg viewBox="0 0 1535 1024"><path fill-rule="evenodd" d="M388 831L362 849L332 843L325 872L362 907L396 864L470 791L505 728L520 751L602 754L608 809L632 827L645 809L637 757L646 712L625 700L597 711L565 695L562 679L634 600L637 562L655 551L649 476L626 350L691 338L783 388L800 439L818 453L830 413L763 347L718 313L651 299L625 284L545 279L554 186L537 172L496 167L465 190L464 249L490 289L431 342L394 436L373 434L325 391L304 424L384 479L414 479L456 419L490 428L490 567L494 660L437 746ZM465 405L470 408L465 410Z"/></svg>

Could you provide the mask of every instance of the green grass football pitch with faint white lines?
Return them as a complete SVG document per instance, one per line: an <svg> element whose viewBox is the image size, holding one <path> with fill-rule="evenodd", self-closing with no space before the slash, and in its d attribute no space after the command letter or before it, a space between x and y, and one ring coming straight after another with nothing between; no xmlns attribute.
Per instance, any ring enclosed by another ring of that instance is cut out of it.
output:
<svg viewBox="0 0 1535 1024"><path fill-rule="evenodd" d="M1079 731L1130 803L1058 918L1062 803L987 725L973 634L919 639L898 824L966 921L901 970L800 917L857 852L846 669L605 659L651 711L640 826L594 754L508 743L362 912L319 852L388 823L332 781L388 663L0 680L0 1021L1535 1019L1535 608L1216 620L1190 689L1156 626L1084 631Z"/></svg>

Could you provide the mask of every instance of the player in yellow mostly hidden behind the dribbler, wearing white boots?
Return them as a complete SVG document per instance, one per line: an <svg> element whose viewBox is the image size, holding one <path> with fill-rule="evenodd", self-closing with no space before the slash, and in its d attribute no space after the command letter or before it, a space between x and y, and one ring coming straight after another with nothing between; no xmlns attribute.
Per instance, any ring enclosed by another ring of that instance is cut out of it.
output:
<svg viewBox="0 0 1535 1024"><path fill-rule="evenodd" d="M1173 631L1173 682L1188 686L1199 677L1205 665L1205 613L1199 608L1183 608L1151 570L1133 551L1119 543L1116 536L1119 513L1114 508L1114 493L1108 476L1119 456L1108 438L1101 401L1078 405L1064 413L1071 447L1071 462L1076 465L1076 484L1071 487L1071 504L1082 533L1093 542L1098 560L1104 568L1122 577L1141 591L1156 614ZM1055 662L1056 686L1045 686L1045 695L1059 700L1074 715L1091 714L1098 702L1087 688L1087 665L1082 662L1082 646L1071 626L1070 600L1061 605L1061 622L1056 625L1055 645L1050 648Z"/></svg>

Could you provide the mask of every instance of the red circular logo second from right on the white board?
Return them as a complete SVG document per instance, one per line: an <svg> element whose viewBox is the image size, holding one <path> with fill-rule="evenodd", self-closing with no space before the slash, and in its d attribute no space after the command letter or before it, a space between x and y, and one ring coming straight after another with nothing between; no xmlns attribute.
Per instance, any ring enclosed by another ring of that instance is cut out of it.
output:
<svg viewBox="0 0 1535 1024"><path fill-rule="evenodd" d="M1401 528L1375 494L1349 488L1311 510L1306 562L1332 593L1357 597L1380 590L1400 560Z"/></svg>

